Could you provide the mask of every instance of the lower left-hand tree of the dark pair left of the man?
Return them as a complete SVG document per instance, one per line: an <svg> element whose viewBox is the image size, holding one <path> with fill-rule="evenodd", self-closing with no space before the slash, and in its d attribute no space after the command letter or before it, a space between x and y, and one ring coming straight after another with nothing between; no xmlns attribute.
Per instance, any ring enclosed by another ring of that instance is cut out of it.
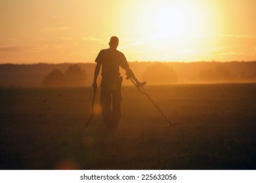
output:
<svg viewBox="0 0 256 183"><path fill-rule="evenodd" d="M43 87L62 87L65 85L65 75L58 69L54 69L47 75L43 82Z"/></svg>

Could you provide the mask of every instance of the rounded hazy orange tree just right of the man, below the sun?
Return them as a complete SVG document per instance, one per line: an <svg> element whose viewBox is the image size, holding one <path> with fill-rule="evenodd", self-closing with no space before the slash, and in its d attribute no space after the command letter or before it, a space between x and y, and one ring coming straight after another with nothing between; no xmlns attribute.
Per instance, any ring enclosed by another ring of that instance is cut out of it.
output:
<svg viewBox="0 0 256 183"><path fill-rule="evenodd" d="M174 83L177 82L177 74L171 67L156 63L144 71L142 79L152 84Z"/></svg>

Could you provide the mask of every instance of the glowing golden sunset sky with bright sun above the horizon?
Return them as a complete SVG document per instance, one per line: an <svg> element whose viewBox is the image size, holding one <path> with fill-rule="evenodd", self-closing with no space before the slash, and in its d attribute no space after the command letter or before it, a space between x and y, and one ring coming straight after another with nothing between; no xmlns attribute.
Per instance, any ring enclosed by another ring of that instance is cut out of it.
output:
<svg viewBox="0 0 256 183"><path fill-rule="evenodd" d="M0 0L0 63L255 61L255 0Z"/></svg>

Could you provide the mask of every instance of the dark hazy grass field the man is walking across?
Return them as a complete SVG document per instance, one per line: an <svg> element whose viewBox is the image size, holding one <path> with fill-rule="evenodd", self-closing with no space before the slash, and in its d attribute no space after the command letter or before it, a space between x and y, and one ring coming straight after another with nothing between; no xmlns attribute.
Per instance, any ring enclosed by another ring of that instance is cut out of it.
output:
<svg viewBox="0 0 256 183"><path fill-rule="evenodd" d="M123 86L116 133L92 88L0 89L0 169L256 169L256 84Z"/></svg>

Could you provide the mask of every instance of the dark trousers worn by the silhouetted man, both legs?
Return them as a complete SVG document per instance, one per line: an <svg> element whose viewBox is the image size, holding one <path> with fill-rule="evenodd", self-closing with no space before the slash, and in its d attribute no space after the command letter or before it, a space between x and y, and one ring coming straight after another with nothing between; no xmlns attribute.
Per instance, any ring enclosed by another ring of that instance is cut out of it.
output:
<svg viewBox="0 0 256 183"><path fill-rule="evenodd" d="M121 83L122 77L102 77L100 83L100 105L102 118L109 129L116 129L121 118Z"/></svg>

